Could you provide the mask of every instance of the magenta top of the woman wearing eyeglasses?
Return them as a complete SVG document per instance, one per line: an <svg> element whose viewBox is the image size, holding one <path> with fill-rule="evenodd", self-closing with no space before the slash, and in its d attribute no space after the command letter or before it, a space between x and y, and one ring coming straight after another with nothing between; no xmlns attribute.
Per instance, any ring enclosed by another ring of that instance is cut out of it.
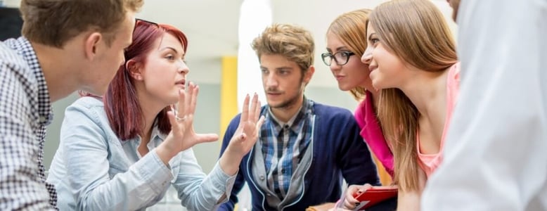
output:
<svg viewBox="0 0 547 211"><path fill-rule="evenodd" d="M365 100L359 103L355 110L355 119L361 127L361 137L365 139L368 147L380 160L385 170L393 178L393 153L385 141L382 128L373 108L372 94L366 91Z"/></svg>

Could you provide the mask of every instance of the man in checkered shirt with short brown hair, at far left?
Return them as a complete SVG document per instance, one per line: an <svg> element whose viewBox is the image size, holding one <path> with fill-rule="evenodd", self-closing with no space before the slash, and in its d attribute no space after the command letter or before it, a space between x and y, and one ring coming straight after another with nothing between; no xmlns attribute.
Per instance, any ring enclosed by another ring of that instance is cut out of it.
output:
<svg viewBox="0 0 547 211"><path fill-rule="evenodd" d="M143 0L22 0L22 37L0 42L0 210L55 210L43 149L51 103L101 95Z"/></svg>

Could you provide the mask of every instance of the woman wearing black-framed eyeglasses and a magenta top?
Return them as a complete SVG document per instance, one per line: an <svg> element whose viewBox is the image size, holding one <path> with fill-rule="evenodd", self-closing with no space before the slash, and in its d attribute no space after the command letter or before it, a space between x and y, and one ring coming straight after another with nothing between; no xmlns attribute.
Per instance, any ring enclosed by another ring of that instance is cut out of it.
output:
<svg viewBox="0 0 547 211"><path fill-rule="evenodd" d="M338 88L349 91L357 101L360 101L354 113L361 127L360 134L392 177L393 154L376 116L380 94L372 86L371 77L368 76L369 63L361 62L361 55L367 46L366 23L370 13L369 9L359 9L339 15L333 20L326 33L327 53L321 54L321 58L333 73ZM384 203L390 203L394 210L397 198L386 200Z"/></svg>

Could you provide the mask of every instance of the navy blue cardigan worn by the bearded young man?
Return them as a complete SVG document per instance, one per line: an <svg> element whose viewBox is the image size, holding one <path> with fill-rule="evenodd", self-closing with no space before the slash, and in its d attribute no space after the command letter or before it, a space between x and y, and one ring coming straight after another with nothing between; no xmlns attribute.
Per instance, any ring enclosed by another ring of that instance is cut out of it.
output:
<svg viewBox="0 0 547 211"><path fill-rule="evenodd" d="M375 163L359 135L359 126L352 113L344 108L320 103L314 103L314 111L314 154L304 176L304 191L298 200L284 207L284 210L305 210L312 205L336 202L342 195L342 179L346 179L348 184L380 185ZM268 112L266 106L262 107L261 114L264 112ZM239 120L240 114L233 118L226 129L221 154L236 132ZM230 200L222 204L219 210L233 210L238 202L237 194L245 182L249 184L251 191L252 210L275 210L267 205L264 192L252 181L250 161L255 150L260 149L252 148L243 157Z"/></svg>

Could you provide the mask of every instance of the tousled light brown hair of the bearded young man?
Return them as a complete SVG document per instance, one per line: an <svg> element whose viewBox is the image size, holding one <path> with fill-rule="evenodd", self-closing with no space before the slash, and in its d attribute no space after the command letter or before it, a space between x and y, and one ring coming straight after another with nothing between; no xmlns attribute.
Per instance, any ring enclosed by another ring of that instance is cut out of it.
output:
<svg viewBox="0 0 547 211"><path fill-rule="evenodd" d="M274 23L252 41L252 49L263 54L279 54L297 63L302 71L314 64L314 38L302 27Z"/></svg>

